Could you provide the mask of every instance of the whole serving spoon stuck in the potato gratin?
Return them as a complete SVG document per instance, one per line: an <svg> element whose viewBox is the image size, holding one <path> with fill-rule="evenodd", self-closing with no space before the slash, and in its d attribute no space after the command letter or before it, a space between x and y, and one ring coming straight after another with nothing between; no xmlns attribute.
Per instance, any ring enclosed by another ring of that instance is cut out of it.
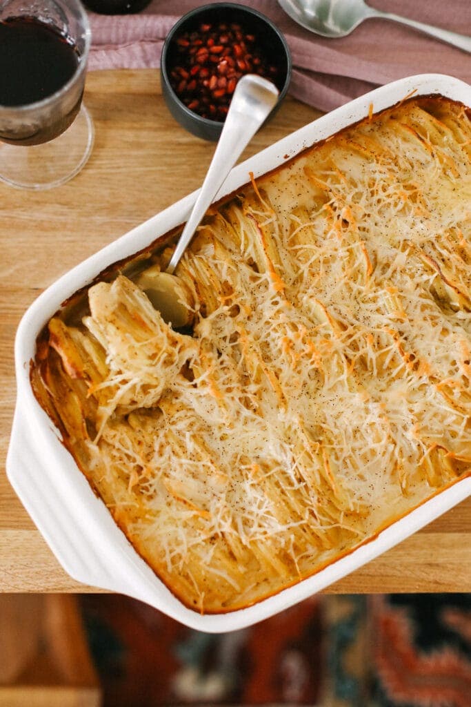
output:
<svg viewBox="0 0 471 707"><path fill-rule="evenodd" d="M189 325L191 307L189 293L186 293L181 279L174 275L174 270L230 170L275 107L278 95L274 83L256 74L246 74L237 82L203 186L167 269L160 271L158 266L150 267L136 280L162 318L172 322L176 329Z"/></svg>

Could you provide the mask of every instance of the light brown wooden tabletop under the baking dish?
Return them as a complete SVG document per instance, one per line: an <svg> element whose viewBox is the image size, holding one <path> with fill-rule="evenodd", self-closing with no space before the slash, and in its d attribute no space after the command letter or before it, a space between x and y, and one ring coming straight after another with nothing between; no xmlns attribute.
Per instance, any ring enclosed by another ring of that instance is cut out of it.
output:
<svg viewBox="0 0 471 707"><path fill-rule="evenodd" d="M63 187L33 193L0 182L0 590L85 592L61 569L4 474L15 404L13 339L40 292L85 257L196 189L213 152L184 132L157 71L90 73L93 154ZM244 157L319 114L289 98ZM20 149L20 148L18 148ZM471 592L471 499L342 579L329 592Z"/></svg>

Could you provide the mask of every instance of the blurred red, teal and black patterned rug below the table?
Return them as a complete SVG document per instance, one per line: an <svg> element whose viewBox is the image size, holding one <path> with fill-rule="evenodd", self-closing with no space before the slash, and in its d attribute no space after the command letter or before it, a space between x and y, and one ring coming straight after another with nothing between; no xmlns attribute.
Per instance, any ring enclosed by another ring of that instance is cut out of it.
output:
<svg viewBox="0 0 471 707"><path fill-rule="evenodd" d="M319 596L220 635L83 595L103 707L471 707L471 595Z"/></svg>

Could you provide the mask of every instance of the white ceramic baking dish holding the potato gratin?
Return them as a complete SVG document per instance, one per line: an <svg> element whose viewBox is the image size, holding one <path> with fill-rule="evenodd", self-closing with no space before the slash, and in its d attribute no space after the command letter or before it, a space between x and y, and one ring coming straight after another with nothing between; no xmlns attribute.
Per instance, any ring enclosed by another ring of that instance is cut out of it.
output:
<svg viewBox="0 0 471 707"><path fill-rule="evenodd" d="M435 74L404 78L378 88L306 125L237 166L219 196L283 163L306 146L325 139L348 124L415 95L440 94L471 106L471 87ZM129 257L159 235L181 223L196 193L134 228L88 258L42 293L26 312L16 337L18 400L13 421L7 473L32 520L56 558L74 579L121 592L151 604L181 623L202 631L241 629L292 606L342 578L423 527L471 494L471 478L462 479L398 520L378 536L311 578L282 590L252 607L227 614L204 615L184 607L136 554L115 525L105 505L60 441L59 431L37 403L30 386L30 361L45 322L69 296L88 284L105 267Z"/></svg>

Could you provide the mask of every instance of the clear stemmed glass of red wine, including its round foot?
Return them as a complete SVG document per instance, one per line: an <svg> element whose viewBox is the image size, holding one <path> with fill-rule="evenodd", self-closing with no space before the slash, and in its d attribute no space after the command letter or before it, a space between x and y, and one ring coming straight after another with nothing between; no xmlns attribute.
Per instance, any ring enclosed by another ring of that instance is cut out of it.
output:
<svg viewBox="0 0 471 707"><path fill-rule="evenodd" d="M90 26L78 0L0 0L0 180L47 189L93 146L82 104Z"/></svg>

